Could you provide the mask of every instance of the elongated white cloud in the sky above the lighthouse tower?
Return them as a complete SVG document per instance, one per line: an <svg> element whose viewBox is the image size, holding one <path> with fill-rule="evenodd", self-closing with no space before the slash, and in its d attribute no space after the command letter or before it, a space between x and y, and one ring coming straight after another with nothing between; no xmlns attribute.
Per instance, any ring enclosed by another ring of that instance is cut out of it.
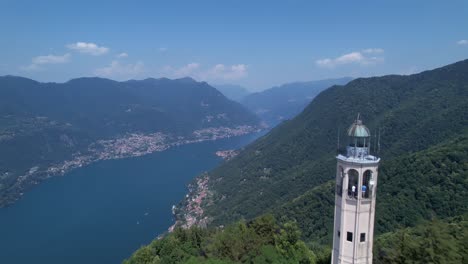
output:
<svg viewBox="0 0 468 264"><path fill-rule="evenodd" d="M384 61L383 53L384 50L380 48L365 49L347 53L337 58L320 59L315 63L323 68L334 68L345 64L373 65Z"/></svg>

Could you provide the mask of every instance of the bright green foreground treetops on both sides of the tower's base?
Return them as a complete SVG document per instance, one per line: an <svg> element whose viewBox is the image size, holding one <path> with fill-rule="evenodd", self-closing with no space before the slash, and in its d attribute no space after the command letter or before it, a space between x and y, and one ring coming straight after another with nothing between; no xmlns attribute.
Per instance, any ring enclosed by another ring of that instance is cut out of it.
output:
<svg viewBox="0 0 468 264"><path fill-rule="evenodd" d="M424 221L378 236L374 263L468 261L468 215ZM329 264L331 250L300 239L295 222L263 215L226 228L177 228L137 250L124 264Z"/></svg>

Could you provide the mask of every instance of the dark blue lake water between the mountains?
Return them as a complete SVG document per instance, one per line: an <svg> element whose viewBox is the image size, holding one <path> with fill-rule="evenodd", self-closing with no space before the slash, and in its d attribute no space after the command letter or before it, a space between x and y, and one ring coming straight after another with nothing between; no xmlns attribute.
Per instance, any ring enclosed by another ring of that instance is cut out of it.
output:
<svg viewBox="0 0 468 264"><path fill-rule="evenodd" d="M0 262L121 263L165 232L186 185L259 134L100 161L49 179L0 209Z"/></svg>

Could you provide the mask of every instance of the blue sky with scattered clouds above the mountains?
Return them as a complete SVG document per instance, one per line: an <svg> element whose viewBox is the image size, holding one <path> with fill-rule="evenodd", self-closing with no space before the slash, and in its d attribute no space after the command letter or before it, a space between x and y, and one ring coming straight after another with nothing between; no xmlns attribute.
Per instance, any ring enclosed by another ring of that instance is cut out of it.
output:
<svg viewBox="0 0 468 264"><path fill-rule="evenodd" d="M468 58L468 1L0 0L0 75L192 77L258 91Z"/></svg>

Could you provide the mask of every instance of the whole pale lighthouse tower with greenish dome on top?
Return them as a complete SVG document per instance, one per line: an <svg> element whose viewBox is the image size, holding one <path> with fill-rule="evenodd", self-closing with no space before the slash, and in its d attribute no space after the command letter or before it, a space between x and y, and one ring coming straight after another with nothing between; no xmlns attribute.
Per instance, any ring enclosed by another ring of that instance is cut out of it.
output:
<svg viewBox="0 0 468 264"><path fill-rule="evenodd" d="M370 153L370 131L359 115L348 137L346 153L336 157L332 264L370 264L380 158Z"/></svg>

